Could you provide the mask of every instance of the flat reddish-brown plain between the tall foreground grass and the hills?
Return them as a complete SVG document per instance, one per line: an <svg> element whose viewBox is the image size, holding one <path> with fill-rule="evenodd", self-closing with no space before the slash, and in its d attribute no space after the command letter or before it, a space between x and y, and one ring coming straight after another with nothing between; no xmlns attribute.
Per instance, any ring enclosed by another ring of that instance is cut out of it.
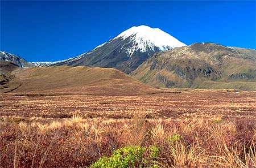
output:
<svg viewBox="0 0 256 168"><path fill-rule="evenodd" d="M255 92L196 91L143 96L0 96L0 117L131 118L142 110L148 118L256 118Z"/></svg>

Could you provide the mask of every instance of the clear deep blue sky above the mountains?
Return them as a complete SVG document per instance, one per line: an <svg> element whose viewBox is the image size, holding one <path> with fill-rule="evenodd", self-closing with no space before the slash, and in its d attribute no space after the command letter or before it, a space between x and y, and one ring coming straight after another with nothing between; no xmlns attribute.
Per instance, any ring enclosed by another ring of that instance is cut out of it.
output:
<svg viewBox="0 0 256 168"><path fill-rule="evenodd" d="M255 1L0 1L1 44L27 61L92 50L134 25L190 45L255 47Z"/></svg>

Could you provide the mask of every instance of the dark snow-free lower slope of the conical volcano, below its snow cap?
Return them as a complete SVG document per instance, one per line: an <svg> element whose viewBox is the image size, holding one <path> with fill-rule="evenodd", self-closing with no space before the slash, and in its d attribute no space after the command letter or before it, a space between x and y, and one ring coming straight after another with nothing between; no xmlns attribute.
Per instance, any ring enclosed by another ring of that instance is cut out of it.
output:
<svg viewBox="0 0 256 168"><path fill-rule="evenodd" d="M127 49L133 47L133 45L133 41L130 41L129 38L126 40L122 40L121 37L112 39L88 53L65 62L53 64L53 66L112 67L129 74L142 64L149 55L154 54L155 51L160 51L158 48L155 51L150 49L147 52L135 51L131 57L128 57Z"/></svg>

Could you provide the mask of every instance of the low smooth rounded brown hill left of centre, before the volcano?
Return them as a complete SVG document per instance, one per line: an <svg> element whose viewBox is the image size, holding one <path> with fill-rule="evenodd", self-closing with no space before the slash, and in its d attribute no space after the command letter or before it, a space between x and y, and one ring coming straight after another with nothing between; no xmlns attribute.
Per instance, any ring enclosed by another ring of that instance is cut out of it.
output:
<svg viewBox="0 0 256 168"><path fill-rule="evenodd" d="M13 71L13 83L20 83L11 94L18 95L137 95L158 92L113 68L30 67ZM1 91L1 90L0 90ZM6 90L5 90L6 91Z"/></svg>

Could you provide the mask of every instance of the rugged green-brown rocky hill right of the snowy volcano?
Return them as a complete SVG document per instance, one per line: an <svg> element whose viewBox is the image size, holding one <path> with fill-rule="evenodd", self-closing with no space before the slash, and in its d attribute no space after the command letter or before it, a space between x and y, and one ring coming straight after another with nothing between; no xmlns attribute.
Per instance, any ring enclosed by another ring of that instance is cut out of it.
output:
<svg viewBox="0 0 256 168"><path fill-rule="evenodd" d="M154 87L256 90L253 49L195 43L152 55L131 73Z"/></svg>

